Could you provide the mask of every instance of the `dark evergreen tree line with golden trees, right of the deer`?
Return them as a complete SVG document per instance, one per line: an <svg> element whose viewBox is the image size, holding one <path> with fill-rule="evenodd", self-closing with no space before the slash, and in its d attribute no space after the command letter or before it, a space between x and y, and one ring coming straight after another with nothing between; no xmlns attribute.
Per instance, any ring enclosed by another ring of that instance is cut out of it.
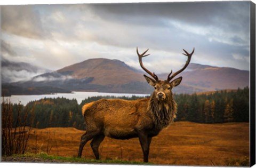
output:
<svg viewBox="0 0 256 168"><path fill-rule="evenodd" d="M249 87L209 94L175 95L177 121L197 123L249 122Z"/></svg>

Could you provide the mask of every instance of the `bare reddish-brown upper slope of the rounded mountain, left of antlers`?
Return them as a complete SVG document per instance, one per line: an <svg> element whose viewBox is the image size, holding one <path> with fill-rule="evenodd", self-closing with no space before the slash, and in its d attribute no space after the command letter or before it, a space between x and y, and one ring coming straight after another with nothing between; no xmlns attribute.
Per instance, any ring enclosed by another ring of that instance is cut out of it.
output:
<svg viewBox="0 0 256 168"><path fill-rule="evenodd" d="M91 84L120 85L131 82L145 82L138 70L119 60L89 59L57 70L58 73L70 72L76 79L93 77Z"/></svg>

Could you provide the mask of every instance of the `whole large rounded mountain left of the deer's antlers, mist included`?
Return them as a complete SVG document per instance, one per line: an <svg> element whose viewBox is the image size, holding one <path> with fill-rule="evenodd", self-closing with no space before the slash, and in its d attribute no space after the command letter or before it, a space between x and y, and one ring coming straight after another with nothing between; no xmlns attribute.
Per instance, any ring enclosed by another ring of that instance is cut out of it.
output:
<svg viewBox="0 0 256 168"><path fill-rule="evenodd" d="M61 86L73 91L145 93L150 87L142 73L119 60L89 59L52 73L35 76L33 86ZM29 83L26 83L30 85ZM141 89L139 87L145 87Z"/></svg>

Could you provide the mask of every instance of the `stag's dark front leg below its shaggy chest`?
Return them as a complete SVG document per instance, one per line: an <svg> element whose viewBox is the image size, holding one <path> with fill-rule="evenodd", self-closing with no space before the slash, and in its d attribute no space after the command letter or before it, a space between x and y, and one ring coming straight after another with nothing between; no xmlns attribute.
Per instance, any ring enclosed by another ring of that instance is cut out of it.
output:
<svg viewBox="0 0 256 168"><path fill-rule="evenodd" d="M143 162L148 162L148 154L149 154L149 140L148 141L148 135L143 132L138 133L140 145L143 151Z"/></svg>

